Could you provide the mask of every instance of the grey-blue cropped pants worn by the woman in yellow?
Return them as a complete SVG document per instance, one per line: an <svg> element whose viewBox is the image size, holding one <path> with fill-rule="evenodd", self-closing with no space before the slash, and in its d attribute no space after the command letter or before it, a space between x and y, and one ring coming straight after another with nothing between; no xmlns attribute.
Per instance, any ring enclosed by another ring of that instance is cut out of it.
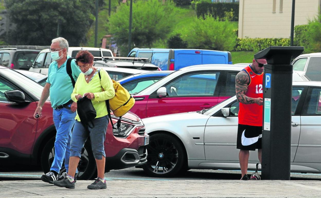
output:
<svg viewBox="0 0 321 198"><path fill-rule="evenodd" d="M108 116L93 119L94 127L89 127L90 133L88 133L81 122L76 120L73 133L71 134L70 157L78 156L80 158L82 147L88 136L90 137L91 149L95 159L102 159L102 156L106 157L104 142L108 121Z"/></svg>

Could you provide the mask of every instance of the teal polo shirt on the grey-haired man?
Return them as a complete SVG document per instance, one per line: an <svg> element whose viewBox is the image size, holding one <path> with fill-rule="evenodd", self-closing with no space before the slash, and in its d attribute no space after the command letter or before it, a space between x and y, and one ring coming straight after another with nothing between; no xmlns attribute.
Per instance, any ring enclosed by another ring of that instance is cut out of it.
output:
<svg viewBox="0 0 321 198"><path fill-rule="evenodd" d="M67 59L69 56L67 56ZM58 68L56 61L49 65L47 82L50 83L49 97L51 107L56 109L56 106L66 104L71 98L71 93L74 90L73 83L66 70L67 61ZM81 73L79 67L75 63L75 59L71 61L72 76L77 81Z"/></svg>

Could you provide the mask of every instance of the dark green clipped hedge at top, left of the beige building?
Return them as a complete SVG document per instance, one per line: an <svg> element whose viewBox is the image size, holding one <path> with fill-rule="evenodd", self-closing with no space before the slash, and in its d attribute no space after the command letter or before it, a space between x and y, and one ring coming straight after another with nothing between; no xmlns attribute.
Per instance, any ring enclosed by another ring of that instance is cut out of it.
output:
<svg viewBox="0 0 321 198"><path fill-rule="evenodd" d="M196 3L197 17L211 15L220 20L239 21L239 3Z"/></svg>

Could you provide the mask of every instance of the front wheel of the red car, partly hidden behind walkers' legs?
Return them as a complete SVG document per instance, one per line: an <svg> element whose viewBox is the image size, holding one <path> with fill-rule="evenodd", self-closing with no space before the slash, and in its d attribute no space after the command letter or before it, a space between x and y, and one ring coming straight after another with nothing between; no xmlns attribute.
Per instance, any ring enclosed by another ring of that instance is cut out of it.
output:
<svg viewBox="0 0 321 198"><path fill-rule="evenodd" d="M44 173L50 171L51 164L55 157L55 140L56 138L51 138L46 146L43 148L41 153L41 168ZM94 174L97 173L96 161L91 150L90 141L87 140L84 147L82 147L81 158L78 163L79 174L77 179L79 180L89 180L94 177ZM60 173L65 172L65 167L61 168Z"/></svg>

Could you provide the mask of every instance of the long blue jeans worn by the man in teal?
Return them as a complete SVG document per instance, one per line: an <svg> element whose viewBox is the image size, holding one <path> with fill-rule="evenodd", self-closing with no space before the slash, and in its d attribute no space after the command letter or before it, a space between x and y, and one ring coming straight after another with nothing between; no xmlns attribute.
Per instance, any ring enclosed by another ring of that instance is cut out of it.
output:
<svg viewBox="0 0 321 198"><path fill-rule="evenodd" d="M68 106L70 107L71 105ZM75 116L76 112L72 112L70 109L53 109L53 120L55 123L57 133L55 141L55 158L52 162L50 170L54 170L57 173L60 172L64 159L65 168L68 172L71 129L73 128L75 123Z"/></svg>

